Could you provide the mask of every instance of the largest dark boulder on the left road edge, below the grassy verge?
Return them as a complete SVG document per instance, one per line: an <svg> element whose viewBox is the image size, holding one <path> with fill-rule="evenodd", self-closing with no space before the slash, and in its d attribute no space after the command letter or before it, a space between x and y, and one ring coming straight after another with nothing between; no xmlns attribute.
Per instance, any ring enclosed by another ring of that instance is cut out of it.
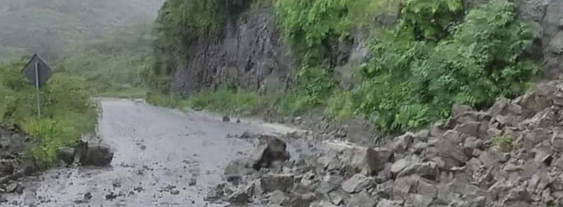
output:
<svg viewBox="0 0 563 207"><path fill-rule="evenodd" d="M80 162L82 165L108 166L112 159L113 151L108 144L88 142Z"/></svg>

